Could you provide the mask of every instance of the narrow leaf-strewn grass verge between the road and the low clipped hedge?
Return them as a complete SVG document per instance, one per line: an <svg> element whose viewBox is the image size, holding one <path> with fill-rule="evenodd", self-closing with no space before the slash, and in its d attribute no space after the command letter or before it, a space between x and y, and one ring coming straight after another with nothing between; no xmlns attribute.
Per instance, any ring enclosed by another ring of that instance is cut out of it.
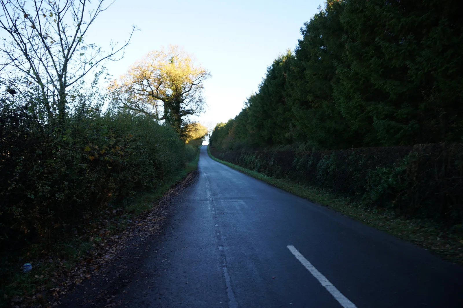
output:
<svg viewBox="0 0 463 308"><path fill-rule="evenodd" d="M207 147L207 153L213 160L239 172L267 182L294 195L329 207L407 242L424 247L451 262L463 264L463 226L461 225L449 229L437 225L430 220L407 219L382 208L369 207L352 201L349 197L334 194L326 189L277 179L233 163L225 162L213 157L209 147Z"/></svg>

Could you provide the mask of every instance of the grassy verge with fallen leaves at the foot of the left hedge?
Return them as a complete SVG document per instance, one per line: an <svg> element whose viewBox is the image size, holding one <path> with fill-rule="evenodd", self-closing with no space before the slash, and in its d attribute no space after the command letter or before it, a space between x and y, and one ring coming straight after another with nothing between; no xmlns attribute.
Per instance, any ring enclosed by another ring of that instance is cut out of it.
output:
<svg viewBox="0 0 463 308"><path fill-rule="evenodd" d="M199 160L199 151L194 159L185 164L185 168L173 175L163 186L155 190L145 191L135 196L125 198L122 202L124 210L113 214L120 204L111 204L108 210L101 213L101 217L91 220L86 228L91 230L84 236L69 236L51 247L43 244L29 245L22 256L2 260L0 274L0 307L6 307L11 302L19 305L44 304L45 297L50 295L48 290L56 286L54 277L60 271L69 270L82 259L90 257L95 243L101 241L98 233L92 233L104 227L110 233L125 230L131 220L139 214L153 207L163 195L178 182L183 180L190 172L196 170ZM111 211L113 209L113 211ZM108 218L111 215L112 218ZM89 240L91 238L91 240ZM26 252L27 251L27 252ZM44 256L47 256L44 258ZM32 270L23 273L19 263L30 262ZM19 307L19 306L18 306ZM22 306L21 306L22 307Z"/></svg>

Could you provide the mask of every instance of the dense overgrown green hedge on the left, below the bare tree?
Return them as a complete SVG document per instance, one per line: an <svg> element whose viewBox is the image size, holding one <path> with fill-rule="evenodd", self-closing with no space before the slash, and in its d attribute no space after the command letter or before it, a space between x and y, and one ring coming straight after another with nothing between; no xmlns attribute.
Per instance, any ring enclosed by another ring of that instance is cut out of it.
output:
<svg viewBox="0 0 463 308"><path fill-rule="evenodd" d="M77 232L110 200L163 185L192 150L170 126L118 110L75 108L62 126L0 101L3 252Z"/></svg>

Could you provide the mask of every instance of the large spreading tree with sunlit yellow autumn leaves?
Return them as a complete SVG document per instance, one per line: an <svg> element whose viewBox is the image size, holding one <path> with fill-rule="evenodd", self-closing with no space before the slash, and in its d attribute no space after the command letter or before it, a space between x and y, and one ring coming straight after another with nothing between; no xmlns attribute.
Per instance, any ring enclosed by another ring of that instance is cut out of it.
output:
<svg viewBox="0 0 463 308"><path fill-rule="evenodd" d="M165 121L187 137L187 118L202 111L203 84L210 76L194 58L178 46L151 51L133 64L110 90L122 107Z"/></svg>

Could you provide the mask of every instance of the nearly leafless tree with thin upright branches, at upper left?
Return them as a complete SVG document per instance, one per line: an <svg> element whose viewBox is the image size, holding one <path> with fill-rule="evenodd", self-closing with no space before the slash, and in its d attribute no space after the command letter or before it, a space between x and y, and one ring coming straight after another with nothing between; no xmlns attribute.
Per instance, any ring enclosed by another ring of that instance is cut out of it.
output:
<svg viewBox="0 0 463 308"><path fill-rule="evenodd" d="M119 60L136 30L133 26L124 44L111 42L107 52L95 44L86 44L90 25L113 4L104 2L0 0L0 54L5 59L0 78L8 79L12 71L19 72L26 79L25 87L38 88L48 118L57 119L56 124L65 119L67 89L102 61ZM23 90L16 86L15 92Z"/></svg>

